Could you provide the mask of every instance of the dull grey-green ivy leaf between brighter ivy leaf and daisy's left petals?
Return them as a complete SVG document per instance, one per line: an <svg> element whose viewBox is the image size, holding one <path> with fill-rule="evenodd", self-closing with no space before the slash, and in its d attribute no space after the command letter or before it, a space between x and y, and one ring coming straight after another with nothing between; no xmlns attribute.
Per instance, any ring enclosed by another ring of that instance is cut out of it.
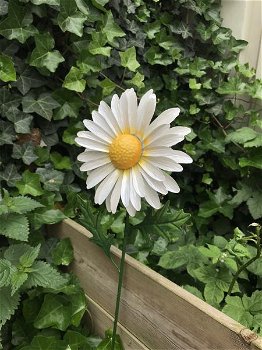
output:
<svg viewBox="0 0 262 350"><path fill-rule="evenodd" d="M59 191L64 181L64 173L54 170L50 167L38 168L36 173L40 175L40 181L46 191Z"/></svg>

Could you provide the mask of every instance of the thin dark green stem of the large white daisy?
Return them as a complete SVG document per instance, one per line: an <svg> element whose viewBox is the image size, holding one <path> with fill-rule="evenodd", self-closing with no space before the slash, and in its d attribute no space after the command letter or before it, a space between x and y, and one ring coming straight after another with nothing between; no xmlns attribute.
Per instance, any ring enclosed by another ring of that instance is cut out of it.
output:
<svg viewBox="0 0 262 350"><path fill-rule="evenodd" d="M124 240L123 240L123 246L122 246L122 256L121 256L121 260L120 260L120 268L119 268L119 275L118 275L115 318L114 318L114 327L113 327L113 334L112 334L112 348L111 348L112 350L114 350L114 348L115 348L115 341L116 341L116 330L117 330L117 322L118 322L118 315L119 315L119 309L120 309L120 298L121 298L121 291L122 291L122 284L123 284L126 244L127 244L127 237L129 234L129 226L130 226L129 214L126 213Z"/></svg>

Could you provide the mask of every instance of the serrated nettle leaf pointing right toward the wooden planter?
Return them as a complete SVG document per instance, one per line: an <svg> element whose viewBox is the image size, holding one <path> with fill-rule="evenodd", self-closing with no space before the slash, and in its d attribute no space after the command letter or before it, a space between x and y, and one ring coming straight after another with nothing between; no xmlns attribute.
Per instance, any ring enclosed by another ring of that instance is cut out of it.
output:
<svg viewBox="0 0 262 350"><path fill-rule="evenodd" d="M44 261L35 261L30 269L26 287L41 286L50 289L59 289L67 283L66 278Z"/></svg>

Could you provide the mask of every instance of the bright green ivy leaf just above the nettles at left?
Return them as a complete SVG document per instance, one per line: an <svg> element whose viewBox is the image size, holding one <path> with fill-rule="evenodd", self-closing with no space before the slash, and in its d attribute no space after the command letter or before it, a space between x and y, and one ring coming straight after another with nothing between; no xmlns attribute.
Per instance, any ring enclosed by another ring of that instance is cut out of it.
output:
<svg viewBox="0 0 262 350"><path fill-rule="evenodd" d="M24 171L22 180L16 183L16 187L21 195L31 194L35 197L44 193L40 184L40 176L29 170Z"/></svg>

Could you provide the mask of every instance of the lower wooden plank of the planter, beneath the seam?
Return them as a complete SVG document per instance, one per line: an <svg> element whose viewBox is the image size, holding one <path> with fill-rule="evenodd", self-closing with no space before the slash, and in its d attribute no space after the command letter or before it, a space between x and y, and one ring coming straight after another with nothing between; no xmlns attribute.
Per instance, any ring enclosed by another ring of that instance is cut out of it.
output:
<svg viewBox="0 0 262 350"><path fill-rule="evenodd" d="M101 306L99 306L92 298L87 296L87 299L92 327L96 334L103 337L105 330L112 328L113 317L109 315ZM149 350L121 324L118 325L117 332L124 343L125 350Z"/></svg>

